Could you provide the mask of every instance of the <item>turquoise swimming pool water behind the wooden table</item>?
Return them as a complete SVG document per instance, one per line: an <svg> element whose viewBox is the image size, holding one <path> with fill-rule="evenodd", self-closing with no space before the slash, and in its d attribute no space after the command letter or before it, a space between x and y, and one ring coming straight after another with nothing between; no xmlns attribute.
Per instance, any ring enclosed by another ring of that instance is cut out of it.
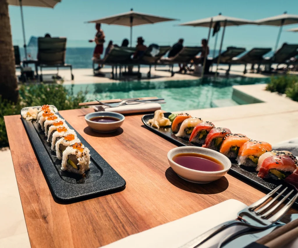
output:
<svg viewBox="0 0 298 248"><path fill-rule="evenodd" d="M204 78L179 81L133 81L67 85L74 93L87 91L87 99L115 99L144 96L157 96L167 102L162 104L166 111L210 108L216 99L231 99L233 85L251 85L266 83L269 78Z"/></svg>

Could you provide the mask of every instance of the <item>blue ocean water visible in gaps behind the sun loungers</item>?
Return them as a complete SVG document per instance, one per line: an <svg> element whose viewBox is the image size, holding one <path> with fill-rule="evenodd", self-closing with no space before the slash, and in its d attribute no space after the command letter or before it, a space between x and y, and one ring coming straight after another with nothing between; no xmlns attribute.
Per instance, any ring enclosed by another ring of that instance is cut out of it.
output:
<svg viewBox="0 0 298 248"><path fill-rule="evenodd" d="M72 64L73 68L92 68L91 58L93 56L92 47L69 47L66 49L65 63ZM27 53L32 59L37 57L36 47L27 47ZM20 47L21 60L24 60L25 53L24 48ZM210 50L209 56L212 57L213 50ZM218 55L218 50L215 50L215 57ZM271 54L266 54L266 56L271 56Z"/></svg>

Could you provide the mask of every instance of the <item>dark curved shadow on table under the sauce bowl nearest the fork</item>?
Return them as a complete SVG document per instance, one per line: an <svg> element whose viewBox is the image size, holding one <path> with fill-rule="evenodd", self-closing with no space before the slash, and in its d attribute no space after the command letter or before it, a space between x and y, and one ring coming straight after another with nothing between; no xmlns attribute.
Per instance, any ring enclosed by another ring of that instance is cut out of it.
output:
<svg viewBox="0 0 298 248"><path fill-rule="evenodd" d="M225 191L229 186L226 177L222 177L221 179L207 184L190 183L180 178L171 167L166 170L165 176L167 180L177 188L195 194L218 194Z"/></svg>

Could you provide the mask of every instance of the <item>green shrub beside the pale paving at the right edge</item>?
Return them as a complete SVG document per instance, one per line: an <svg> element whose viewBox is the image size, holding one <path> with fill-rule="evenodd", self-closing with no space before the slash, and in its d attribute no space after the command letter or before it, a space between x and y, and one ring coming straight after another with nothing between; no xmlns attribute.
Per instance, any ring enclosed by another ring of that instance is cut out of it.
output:
<svg viewBox="0 0 298 248"><path fill-rule="evenodd" d="M286 89L294 85L294 83L296 82L298 82L298 77L295 75L285 75L277 77L272 76L271 81L266 87L266 90L284 94Z"/></svg>

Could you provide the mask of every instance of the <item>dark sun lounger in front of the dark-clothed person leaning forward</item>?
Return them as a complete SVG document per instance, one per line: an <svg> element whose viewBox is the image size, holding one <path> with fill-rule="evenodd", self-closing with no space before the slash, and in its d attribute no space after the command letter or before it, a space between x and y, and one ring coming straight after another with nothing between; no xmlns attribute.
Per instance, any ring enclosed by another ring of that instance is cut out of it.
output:
<svg viewBox="0 0 298 248"><path fill-rule="evenodd" d="M174 64L187 64L198 54L202 52L201 46L184 46L174 57L163 57L159 60L160 65L172 65L172 77L174 76Z"/></svg>

